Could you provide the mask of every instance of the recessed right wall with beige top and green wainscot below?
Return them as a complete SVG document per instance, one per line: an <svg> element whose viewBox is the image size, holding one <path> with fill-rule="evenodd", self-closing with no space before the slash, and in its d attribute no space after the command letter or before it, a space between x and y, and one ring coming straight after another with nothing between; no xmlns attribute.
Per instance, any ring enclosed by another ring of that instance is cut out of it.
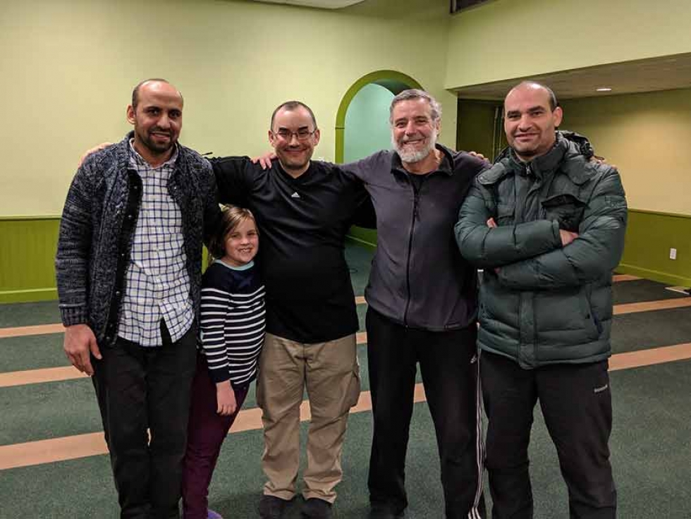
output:
<svg viewBox="0 0 691 519"><path fill-rule="evenodd" d="M631 208L620 270L691 286L691 89L568 99L562 106L563 128L587 135L620 171Z"/></svg>

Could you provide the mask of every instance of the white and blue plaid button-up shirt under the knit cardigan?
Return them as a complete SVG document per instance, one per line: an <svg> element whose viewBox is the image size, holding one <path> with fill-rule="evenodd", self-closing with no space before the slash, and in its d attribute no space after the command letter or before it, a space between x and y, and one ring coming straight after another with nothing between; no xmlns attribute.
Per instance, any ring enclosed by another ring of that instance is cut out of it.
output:
<svg viewBox="0 0 691 519"><path fill-rule="evenodd" d="M118 336L141 346L161 346L161 319L177 341L195 318L182 214L168 191L177 158L176 148L169 161L152 168L130 140L130 168L142 178L142 204L125 274Z"/></svg>

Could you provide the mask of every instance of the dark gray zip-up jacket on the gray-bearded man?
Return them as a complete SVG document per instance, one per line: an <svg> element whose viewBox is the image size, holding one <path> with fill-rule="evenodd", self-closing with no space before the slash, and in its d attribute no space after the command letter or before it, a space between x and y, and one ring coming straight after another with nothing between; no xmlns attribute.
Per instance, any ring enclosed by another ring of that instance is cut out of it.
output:
<svg viewBox="0 0 691 519"><path fill-rule="evenodd" d="M396 152L343 167L365 183L377 212L367 303L398 324L444 331L465 328L477 317L477 274L458 252L453 225L473 179L488 164L436 147L444 159L419 189Z"/></svg>

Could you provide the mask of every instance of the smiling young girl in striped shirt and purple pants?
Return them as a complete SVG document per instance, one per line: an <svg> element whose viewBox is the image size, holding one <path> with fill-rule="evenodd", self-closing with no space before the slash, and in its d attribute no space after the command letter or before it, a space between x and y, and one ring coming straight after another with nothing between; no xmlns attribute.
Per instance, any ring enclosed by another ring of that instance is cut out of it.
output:
<svg viewBox="0 0 691 519"><path fill-rule="evenodd" d="M248 209L224 207L202 278L201 343L192 383L183 468L184 519L219 519L207 509L209 482L238 415L264 343L264 285L252 259L259 233Z"/></svg>

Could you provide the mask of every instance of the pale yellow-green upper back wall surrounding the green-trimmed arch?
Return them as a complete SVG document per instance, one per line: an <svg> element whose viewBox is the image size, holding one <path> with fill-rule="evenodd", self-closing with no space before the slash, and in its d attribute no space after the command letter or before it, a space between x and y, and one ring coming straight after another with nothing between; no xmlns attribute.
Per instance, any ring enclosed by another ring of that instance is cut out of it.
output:
<svg viewBox="0 0 691 519"><path fill-rule="evenodd" d="M1 10L0 216L59 214L78 157L123 137L131 89L148 77L183 92L181 142L200 152L263 152L271 111L297 98L322 128L315 155L334 159L343 94L381 69L438 97L441 140L455 142L455 97L443 88L448 16L412 24L215 0L4 1Z"/></svg>

